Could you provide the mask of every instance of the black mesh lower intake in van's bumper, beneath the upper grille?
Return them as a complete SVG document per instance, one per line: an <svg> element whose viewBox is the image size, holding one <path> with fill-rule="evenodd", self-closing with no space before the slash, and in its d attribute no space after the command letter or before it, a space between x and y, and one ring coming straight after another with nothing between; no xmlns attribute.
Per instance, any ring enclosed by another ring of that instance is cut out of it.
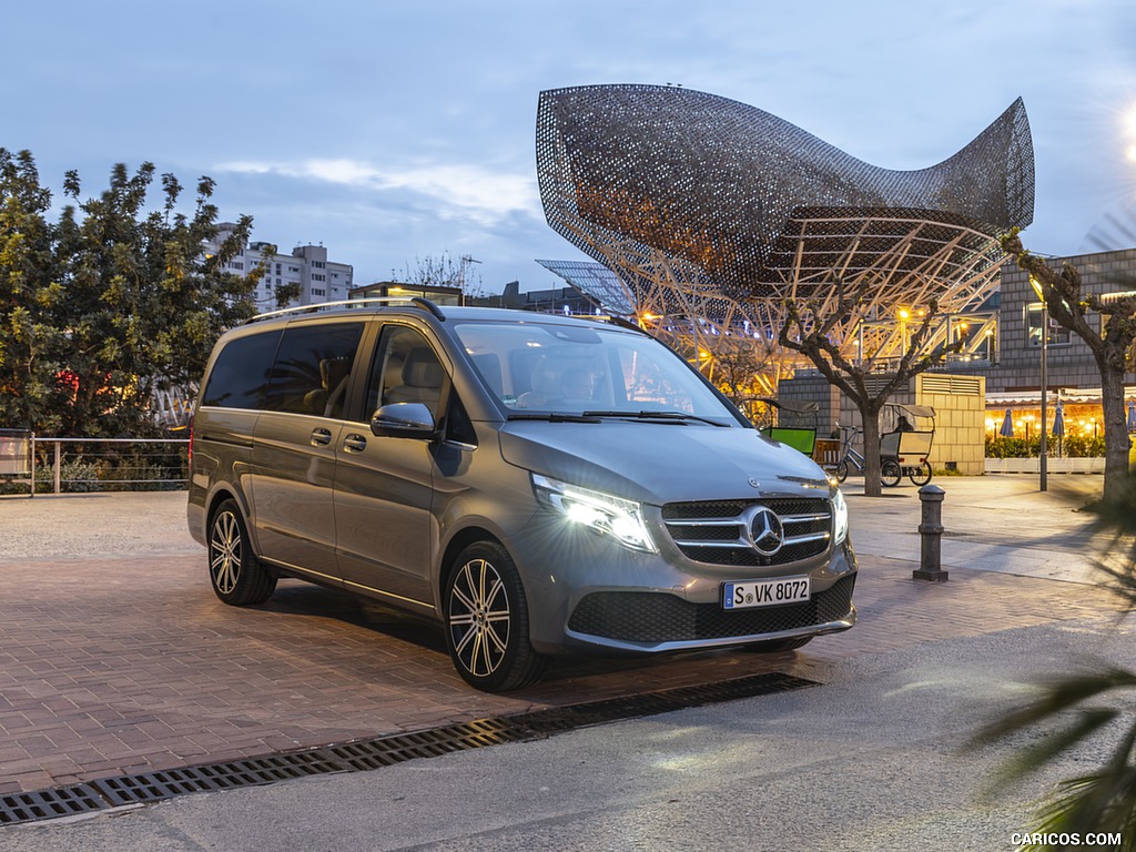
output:
<svg viewBox="0 0 1136 852"><path fill-rule="evenodd" d="M834 583L809 601L784 607L725 610L717 603L690 603L660 592L594 592L568 620L591 636L623 642L695 642L757 636L837 621L852 611L855 575Z"/></svg>

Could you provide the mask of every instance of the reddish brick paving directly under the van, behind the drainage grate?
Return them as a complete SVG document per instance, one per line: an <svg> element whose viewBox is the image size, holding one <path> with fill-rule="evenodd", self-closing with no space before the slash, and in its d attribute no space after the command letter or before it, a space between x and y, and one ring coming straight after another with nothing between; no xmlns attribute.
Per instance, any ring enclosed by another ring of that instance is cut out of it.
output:
<svg viewBox="0 0 1136 852"><path fill-rule="evenodd" d="M860 624L795 654L558 661L494 696L468 688L438 630L285 582L264 608L216 600L203 550L0 561L0 794L324 745L533 708L810 668L1061 619L1111 617L1088 585L861 559Z"/></svg>

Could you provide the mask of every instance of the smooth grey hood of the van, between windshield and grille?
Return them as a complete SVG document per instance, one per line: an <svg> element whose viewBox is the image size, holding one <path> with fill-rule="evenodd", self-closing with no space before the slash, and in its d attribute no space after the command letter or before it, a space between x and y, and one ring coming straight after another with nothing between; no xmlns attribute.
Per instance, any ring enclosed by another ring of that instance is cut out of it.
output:
<svg viewBox="0 0 1136 852"><path fill-rule="evenodd" d="M825 471L757 429L628 421L513 420L510 465L644 503L828 493Z"/></svg>

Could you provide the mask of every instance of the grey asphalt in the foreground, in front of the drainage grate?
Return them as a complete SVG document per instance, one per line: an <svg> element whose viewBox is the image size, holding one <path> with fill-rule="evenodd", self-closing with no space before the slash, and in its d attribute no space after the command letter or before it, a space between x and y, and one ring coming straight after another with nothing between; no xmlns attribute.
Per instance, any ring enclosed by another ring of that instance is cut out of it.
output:
<svg viewBox="0 0 1136 852"><path fill-rule="evenodd" d="M791 693L14 826L0 849L1012 850L1030 801L1104 744L994 802L982 785L1008 751L962 744L1029 677L1084 655L1136 665L1131 638L1088 620L933 643L832 665Z"/></svg>

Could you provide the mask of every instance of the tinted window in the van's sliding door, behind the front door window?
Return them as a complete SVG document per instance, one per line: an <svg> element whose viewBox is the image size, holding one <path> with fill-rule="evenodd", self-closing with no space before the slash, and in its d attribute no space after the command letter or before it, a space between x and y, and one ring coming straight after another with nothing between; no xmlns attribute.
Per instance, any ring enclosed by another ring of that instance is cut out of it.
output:
<svg viewBox="0 0 1136 852"><path fill-rule="evenodd" d="M268 381L265 409L341 418L362 323L291 326Z"/></svg>

